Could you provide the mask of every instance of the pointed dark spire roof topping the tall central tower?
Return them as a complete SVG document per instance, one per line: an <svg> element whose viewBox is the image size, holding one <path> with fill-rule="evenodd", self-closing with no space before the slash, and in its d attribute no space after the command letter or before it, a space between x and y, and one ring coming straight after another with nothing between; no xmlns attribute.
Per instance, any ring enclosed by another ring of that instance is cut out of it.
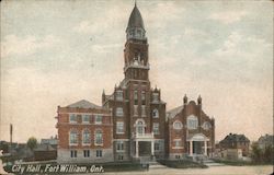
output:
<svg viewBox="0 0 274 175"><path fill-rule="evenodd" d="M138 10L137 5L135 4L132 14L128 20L127 27L141 27L145 30L144 21L140 14L140 11Z"/></svg>

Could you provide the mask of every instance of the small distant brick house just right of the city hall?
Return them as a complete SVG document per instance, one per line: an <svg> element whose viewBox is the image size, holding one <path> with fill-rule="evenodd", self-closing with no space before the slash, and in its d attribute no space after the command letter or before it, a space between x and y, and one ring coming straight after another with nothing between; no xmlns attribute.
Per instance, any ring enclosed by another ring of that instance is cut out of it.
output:
<svg viewBox="0 0 274 175"><path fill-rule="evenodd" d="M229 133L224 140L219 142L220 151L227 149L240 149L242 155L249 154L250 140L244 135Z"/></svg>

